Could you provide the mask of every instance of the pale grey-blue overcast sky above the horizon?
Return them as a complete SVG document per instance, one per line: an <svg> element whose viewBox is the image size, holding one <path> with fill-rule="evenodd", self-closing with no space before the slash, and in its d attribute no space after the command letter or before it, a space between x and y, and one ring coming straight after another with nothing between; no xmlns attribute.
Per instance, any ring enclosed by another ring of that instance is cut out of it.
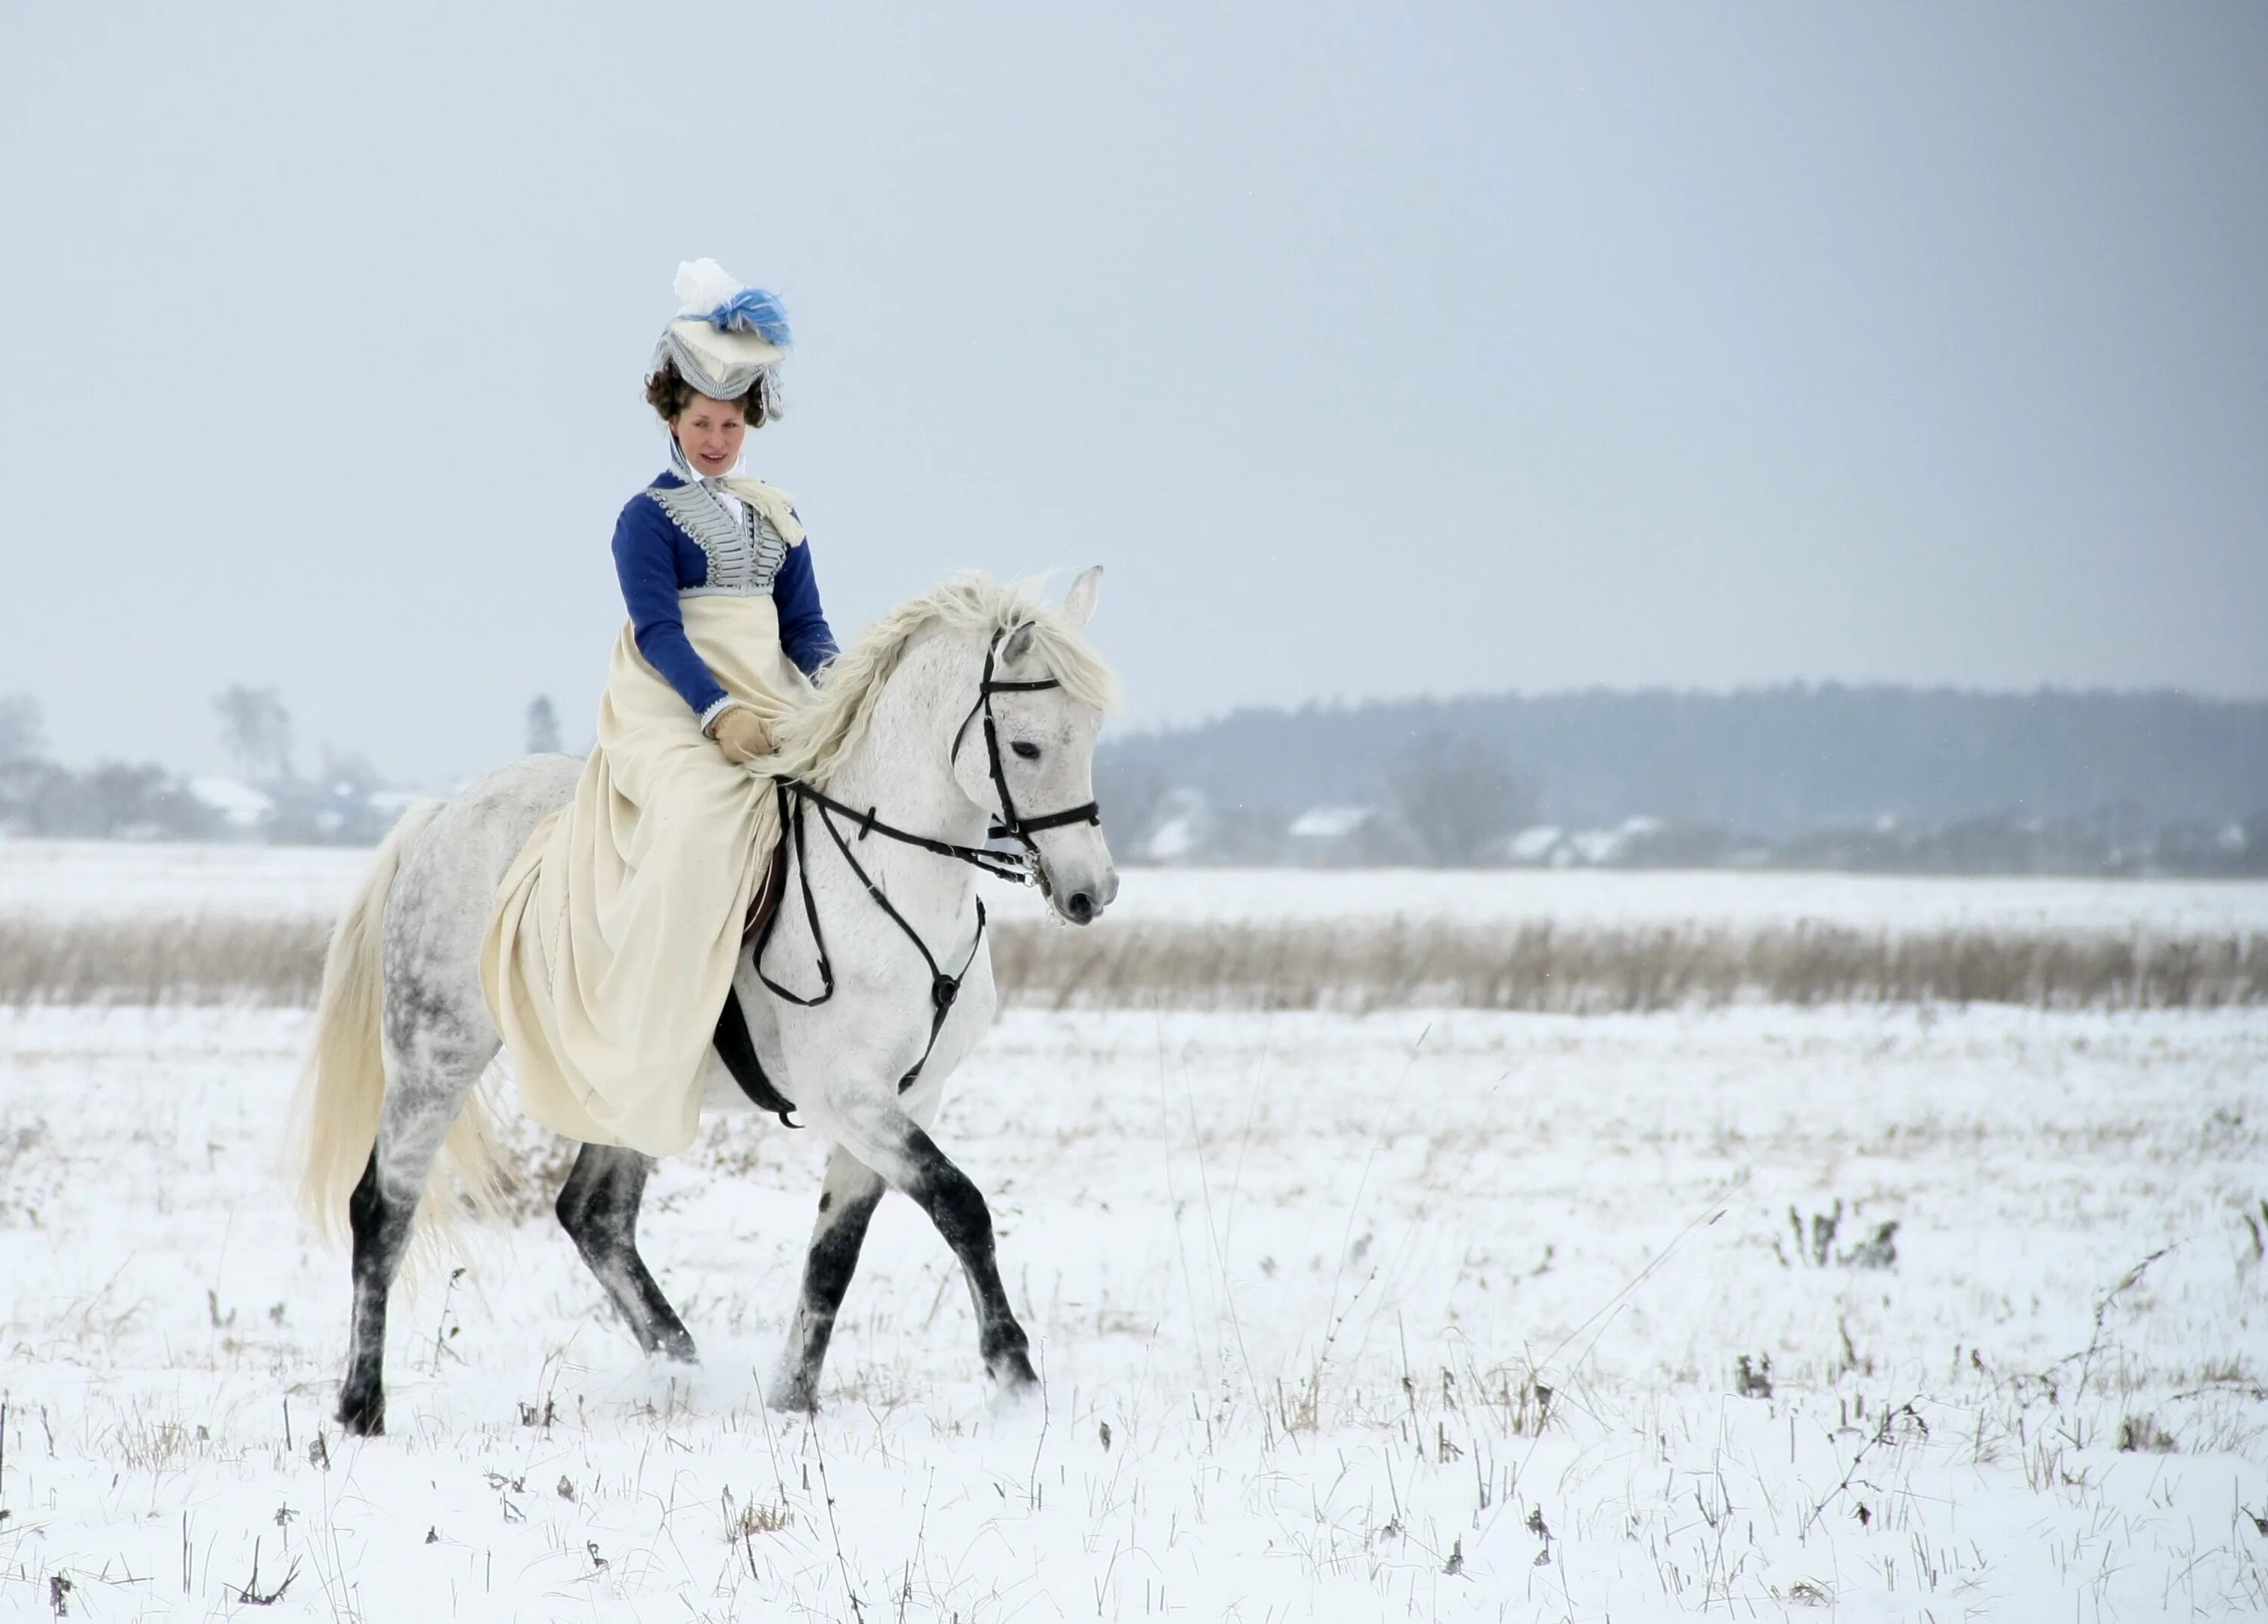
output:
<svg viewBox="0 0 2268 1624"><path fill-rule="evenodd" d="M680 259L848 633L1105 563L1132 721L2268 694L2268 7L0 7L0 694L587 737Z"/></svg>

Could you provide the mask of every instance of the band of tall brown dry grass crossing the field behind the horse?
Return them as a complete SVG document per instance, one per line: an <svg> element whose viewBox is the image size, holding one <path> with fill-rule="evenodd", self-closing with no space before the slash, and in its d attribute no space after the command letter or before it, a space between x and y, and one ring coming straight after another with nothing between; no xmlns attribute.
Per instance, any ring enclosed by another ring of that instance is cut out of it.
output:
<svg viewBox="0 0 2268 1624"><path fill-rule="evenodd" d="M0 1005L313 1005L322 921L0 921ZM2268 939L1844 925L1002 923L1009 1003L1529 1009L1730 1003L2214 1009L2268 1003Z"/></svg>

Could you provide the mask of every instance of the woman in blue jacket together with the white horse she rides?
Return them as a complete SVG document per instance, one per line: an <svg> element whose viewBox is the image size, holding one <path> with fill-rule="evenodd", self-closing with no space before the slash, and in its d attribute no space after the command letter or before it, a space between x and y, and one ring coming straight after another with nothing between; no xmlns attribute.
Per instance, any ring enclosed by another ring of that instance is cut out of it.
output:
<svg viewBox="0 0 2268 1624"><path fill-rule="evenodd" d="M501 1189L479 1084L503 1043L522 1107L583 1141L553 1204L576 1252L640 1347L694 1359L637 1254L637 1207L653 1157L692 1143L723 1082L710 1061L730 1064L719 1012L742 975L742 1059L778 1086L735 1066L719 1109L792 1100L832 1145L767 1402L819 1402L885 1189L959 1261L987 1375L1036 1381L991 1211L930 1127L998 1007L975 873L1032 878L1080 925L1118 891L1093 794L1116 683L1084 635L1102 572L1061 608L948 581L860 633L814 692L835 637L803 524L733 472L746 429L778 413L787 322L705 261L678 293L646 386L674 472L615 528L631 619L599 748L526 755L411 807L324 955L293 1111L302 1202L354 1236L349 1433L386 1429L386 1304L413 1223L447 1213L451 1186L476 1204ZM744 928L782 807L801 905L773 916L767 969L767 939L744 950ZM1018 851L1002 857L993 835Z"/></svg>

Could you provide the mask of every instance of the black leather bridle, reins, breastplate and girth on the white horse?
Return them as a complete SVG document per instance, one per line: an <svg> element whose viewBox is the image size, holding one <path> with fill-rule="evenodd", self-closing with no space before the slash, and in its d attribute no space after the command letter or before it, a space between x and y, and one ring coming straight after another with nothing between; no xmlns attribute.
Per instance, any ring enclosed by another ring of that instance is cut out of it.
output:
<svg viewBox="0 0 2268 1624"><path fill-rule="evenodd" d="M782 844L794 846L796 882L803 891L803 921L812 932L812 946L819 950L819 991L812 996L803 996L789 987L782 987L780 982L771 980L771 975L764 973L764 948L771 944L771 932L780 923L780 914L787 912L785 907L776 907L771 916L764 921L764 928L755 937L755 955L753 955L755 975L760 982L764 982L767 989L771 989L776 998L785 998L787 1003L798 1005L803 1009L816 1009L819 1005L828 1003L835 996L835 959L828 955L828 941L819 932L819 903L812 898L812 864L805 844L805 814L812 807L816 807L819 826L835 841L835 851L844 855L844 862L850 864L850 873L855 873L860 885L866 887L866 896L875 900L875 907L889 914L891 923L898 925L905 939L912 941L914 948L921 953L921 962L930 966L930 1041L923 1046L921 1059L914 1061L914 1068L898 1080L898 1093L905 1093L921 1080L923 1066L928 1066L930 1055L937 1052L937 1034L946 1030L946 1016L953 1012L953 1003L962 993L962 980L978 962L978 950L984 946L984 898L982 896L978 898L978 934L968 944L968 957L962 959L962 969L948 975L946 969L937 962L937 955L930 953L930 944L921 939L921 932L914 930L914 925L905 919L905 914L898 912L898 905L891 903L889 896L882 891L882 887L873 882L873 876L866 873L866 864L862 864L857 860L857 853L850 851L850 841L844 839L844 832L835 819L841 817L848 823L857 826L860 841L864 841L869 835L885 835L905 846L919 846L921 851L934 853L939 857L966 862L971 869L980 869L982 873L989 873L996 880L1012 880L1016 885L1036 885L1039 891L1050 898L1052 894L1048 891L1048 873L1039 862L1039 846L1034 844L1032 837L1043 835L1050 828L1064 828L1066 823L1102 823L1102 807L1095 801L1068 807L1064 812L1046 812L1032 819L1016 812L1016 798L1009 794L1007 771L1000 764L1000 728L998 721L993 719L991 696L1034 694L1048 687L1061 687L1064 683L1052 676L1032 683L1002 683L993 676L1000 655L1000 642L1014 635L1014 631L1023 628L1018 626L1012 631L996 631L993 640L984 646L984 676L978 680L978 699L968 708L968 714L962 717L962 726L955 728L953 751L946 755L946 760L959 762L962 742L968 735L968 724L973 724L982 714L987 767L991 769L993 792L998 792L1000 796L1000 817L991 821L991 830L987 837L1014 839L1016 844L1023 846L1021 853L1000 853L991 851L989 846L959 846L948 839L914 835L912 830L903 830L896 828L894 823L885 823L882 819L878 819L875 807L866 807L864 812L860 812L857 807L844 805L835 796L803 783L801 778L780 778L773 783L773 796L780 810L780 839ZM778 1118L787 1123L787 1127L801 1127L801 1123L787 1120L787 1114L796 1107L787 1098L782 1098L780 1091L764 1075L764 1068L755 1057L755 1043L748 1037L746 1016L739 1009L739 998L737 993L730 991L726 993L723 1016L717 1023L717 1050L723 1055L726 1066L733 1071L733 1077L739 1082L742 1091L748 1093L748 1098L753 1098L767 1111L776 1111Z"/></svg>

